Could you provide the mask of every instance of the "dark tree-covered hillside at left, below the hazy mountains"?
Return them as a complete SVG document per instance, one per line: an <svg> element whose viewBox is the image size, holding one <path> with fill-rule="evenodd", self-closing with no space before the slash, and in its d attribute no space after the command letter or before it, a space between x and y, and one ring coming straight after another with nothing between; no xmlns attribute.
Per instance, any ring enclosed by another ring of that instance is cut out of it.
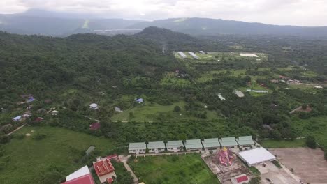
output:
<svg viewBox="0 0 327 184"><path fill-rule="evenodd" d="M134 36L88 33L52 38L0 32L2 105L13 104L23 93L49 98L69 86L89 93L110 91L129 78L155 79L173 67L172 55Z"/></svg>

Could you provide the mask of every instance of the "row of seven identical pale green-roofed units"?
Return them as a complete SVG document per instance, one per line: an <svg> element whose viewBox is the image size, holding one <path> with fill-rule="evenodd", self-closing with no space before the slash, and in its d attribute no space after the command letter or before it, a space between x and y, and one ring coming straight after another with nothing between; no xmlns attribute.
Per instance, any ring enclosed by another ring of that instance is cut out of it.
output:
<svg viewBox="0 0 327 184"><path fill-rule="evenodd" d="M178 152L183 151L201 151L204 149L217 149L221 147L233 148L235 146L252 146L254 141L252 136L235 137L222 137L210 139L189 139L186 141L152 141L147 144L145 142L136 142L129 144L129 153L140 154L148 150L149 153L159 153L163 151Z"/></svg>

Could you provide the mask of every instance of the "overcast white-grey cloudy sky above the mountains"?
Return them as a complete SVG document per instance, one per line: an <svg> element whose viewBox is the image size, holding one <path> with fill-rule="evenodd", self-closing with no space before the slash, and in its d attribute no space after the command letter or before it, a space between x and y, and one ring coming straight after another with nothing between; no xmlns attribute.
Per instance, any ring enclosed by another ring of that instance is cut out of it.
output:
<svg viewBox="0 0 327 184"><path fill-rule="evenodd" d="M0 0L0 13L29 8L106 18L210 17L266 24L327 26L326 0Z"/></svg>

